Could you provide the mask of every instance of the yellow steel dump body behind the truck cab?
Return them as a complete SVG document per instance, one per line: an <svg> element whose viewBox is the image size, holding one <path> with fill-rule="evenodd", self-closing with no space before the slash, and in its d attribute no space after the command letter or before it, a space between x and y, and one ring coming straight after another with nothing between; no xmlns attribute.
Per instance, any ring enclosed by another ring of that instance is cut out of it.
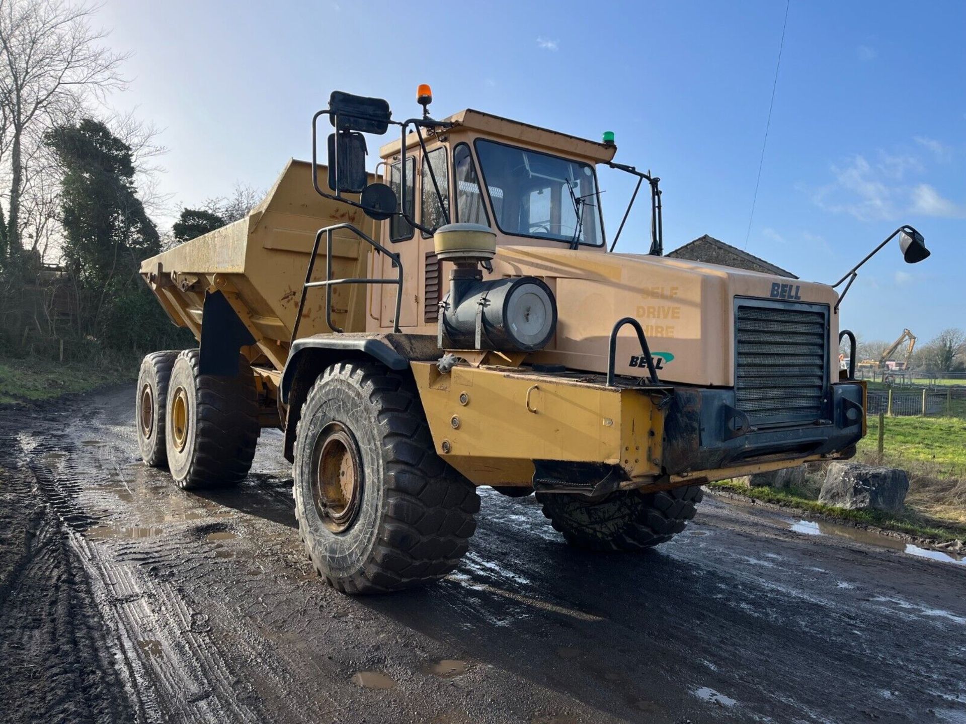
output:
<svg viewBox="0 0 966 724"><path fill-rule="evenodd" d="M218 290L252 330L255 345L246 356L280 373L285 367L298 299L309 254L319 229L350 223L378 240L380 224L361 211L329 201L312 187L311 164L290 160L265 200L244 218L164 251L141 265L141 275L179 326L201 340L206 292ZM320 167L324 183L326 168ZM355 197L350 197L355 198ZM368 256L358 237L333 234L333 277L366 277ZM312 280L326 275L322 244ZM366 290L359 285L332 288L332 320L346 331L365 329ZM306 297L298 335L331 331L324 310L325 292Z"/></svg>

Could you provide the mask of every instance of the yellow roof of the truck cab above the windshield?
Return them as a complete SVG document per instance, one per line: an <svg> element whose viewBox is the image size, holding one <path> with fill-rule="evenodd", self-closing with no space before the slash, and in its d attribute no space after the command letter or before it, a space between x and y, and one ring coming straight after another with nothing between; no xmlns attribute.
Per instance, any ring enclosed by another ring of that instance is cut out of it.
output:
<svg viewBox="0 0 966 724"><path fill-rule="evenodd" d="M443 119L453 124L449 133L458 133L461 130L472 131L475 134L499 138L511 143L517 143L527 147L539 147L542 150L562 153L568 156L580 156L584 160L593 163L607 163L616 153L616 146L608 146L597 141L589 141L579 136L572 136L567 133L541 128L538 125L525 124L520 121L513 121L492 113L467 108L466 110L454 113L452 116ZM423 132L423 138L426 133ZM415 133L410 133L406 137L407 153L413 146L418 146L419 141ZM383 158L389 158L400 152L402 144L397 139L385 144L379 150Z"/></svg>

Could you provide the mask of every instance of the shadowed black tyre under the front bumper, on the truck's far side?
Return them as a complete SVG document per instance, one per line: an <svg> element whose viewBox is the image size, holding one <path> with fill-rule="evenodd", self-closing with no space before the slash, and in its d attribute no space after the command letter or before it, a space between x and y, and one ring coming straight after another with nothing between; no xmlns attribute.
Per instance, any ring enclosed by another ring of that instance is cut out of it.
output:
<svg viewBox="0 0 966 724"><path fill-rule="evenodd" d="M695 516L700 486L639 493L622 490L598 503L579 495L537 493L543 514L567 543L587 550L640 550L667 543Z"/></svg>

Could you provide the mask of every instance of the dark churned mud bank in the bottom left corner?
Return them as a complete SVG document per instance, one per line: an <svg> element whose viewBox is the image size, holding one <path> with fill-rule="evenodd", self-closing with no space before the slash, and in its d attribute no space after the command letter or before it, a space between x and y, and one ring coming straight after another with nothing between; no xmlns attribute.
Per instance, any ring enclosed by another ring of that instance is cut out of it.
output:
<svg viewBox="0 0 966 724"><path fill-rule="evenodd" d="M136 721L70 532L43 504L17 436L0 435L4 721Z"/></svg>

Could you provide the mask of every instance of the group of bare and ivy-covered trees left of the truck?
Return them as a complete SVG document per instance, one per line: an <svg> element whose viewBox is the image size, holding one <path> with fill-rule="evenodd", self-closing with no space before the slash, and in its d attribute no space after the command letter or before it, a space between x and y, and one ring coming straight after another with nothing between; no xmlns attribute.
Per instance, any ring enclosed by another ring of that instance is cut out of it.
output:
<svg viewBox="0 0 966 724"><path fill-rule="evenodd" d="M44 262L56 261L71 322L44 329L35 312L38 333L126 351L185 346L190 336L164 315L140 263L241 218L259 194L236 186L182 209L170 233L158 230L154 217L170 202L157 191L165 149L154 125L107 107L128 85L128 56L105 44L96 11L0 0L0 318L23 307L44 274L50 282ZM0 335L11 329L0 324Z"/></svg>

